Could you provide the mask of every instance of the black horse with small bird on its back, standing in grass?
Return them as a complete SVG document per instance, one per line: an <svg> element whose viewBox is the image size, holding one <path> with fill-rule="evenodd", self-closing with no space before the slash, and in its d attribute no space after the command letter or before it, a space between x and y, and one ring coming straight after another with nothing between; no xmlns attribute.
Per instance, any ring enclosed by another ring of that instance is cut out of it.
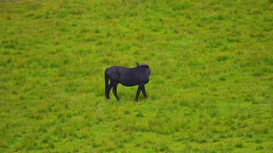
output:
<svg viewBox="0 0 273 153"><path fill-rule="evenodd" d="M117 101L119 100L117 95L117 84L119 83L126 87L139 86L138 91L136 91L135 102L138 101L141 91L146 98L145 84L149 82L150 73L149 65L139 65L139 63L136 63L136 66L133 68L123 66L111 66L106 68L104 74L106 99L110 99L109 93L113 87L113 94ZM108 85L109 80L110 84Z"/></svg>

